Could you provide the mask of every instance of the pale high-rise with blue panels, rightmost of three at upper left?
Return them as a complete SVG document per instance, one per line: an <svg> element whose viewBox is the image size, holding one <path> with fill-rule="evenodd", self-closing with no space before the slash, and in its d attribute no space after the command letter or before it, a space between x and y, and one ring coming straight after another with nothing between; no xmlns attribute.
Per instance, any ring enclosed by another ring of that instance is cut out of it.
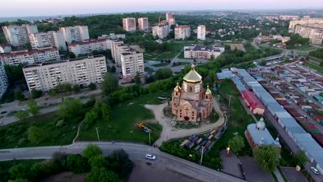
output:
<svg viewBox="0 0 323 182"><path fill-rule="evenodd" d="M88 26L60 27L59 31L63 32L63 37L67 43L90 39Z"/></svg>

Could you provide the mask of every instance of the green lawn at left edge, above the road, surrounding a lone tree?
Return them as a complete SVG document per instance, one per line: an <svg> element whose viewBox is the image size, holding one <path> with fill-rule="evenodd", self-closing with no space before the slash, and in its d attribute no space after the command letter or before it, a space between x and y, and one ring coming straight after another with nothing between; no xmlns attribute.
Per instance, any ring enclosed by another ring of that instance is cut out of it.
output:
<svg viewBox="0 0 323 182"><path fill-rule="evenodd" d="M57 127L59 116L55 112L30 117L26 121L18 121L0 128L0 148L24 148L48 145L68 145L77 133L79 121L66 121ZM44 131L44 139L40 143L28 141L28 128L36 126Z"/></svg>

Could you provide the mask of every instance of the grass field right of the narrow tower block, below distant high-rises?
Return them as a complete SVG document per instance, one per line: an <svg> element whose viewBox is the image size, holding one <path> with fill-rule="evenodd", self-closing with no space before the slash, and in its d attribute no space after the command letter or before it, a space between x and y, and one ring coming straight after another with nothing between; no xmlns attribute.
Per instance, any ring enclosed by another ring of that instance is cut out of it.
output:
<svg viewBox="0 0 323 182"><path fill-rule="evenodd" d="M144 52L144 59L147 61L161 61L165 59L173 59L186 45L185 42L173 43L172 50L168 52Z"/></svg>

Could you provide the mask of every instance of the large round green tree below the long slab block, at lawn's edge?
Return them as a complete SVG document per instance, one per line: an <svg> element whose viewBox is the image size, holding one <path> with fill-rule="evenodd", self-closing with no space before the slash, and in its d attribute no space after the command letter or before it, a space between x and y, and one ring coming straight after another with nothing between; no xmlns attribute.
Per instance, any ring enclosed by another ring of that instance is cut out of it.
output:
<svg viewBox="0 0 323 182"><path fill-rule="evenodd" d="M65 99L58 110L63 119L72 119L82 115L83 105L80 99Z"/></svg>

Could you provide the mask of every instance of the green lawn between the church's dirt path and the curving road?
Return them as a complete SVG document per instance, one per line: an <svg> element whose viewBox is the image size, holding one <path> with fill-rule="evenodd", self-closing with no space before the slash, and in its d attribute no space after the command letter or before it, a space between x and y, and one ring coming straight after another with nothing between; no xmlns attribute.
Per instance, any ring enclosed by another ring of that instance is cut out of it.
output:
<svg viewBox="0 0 323 182"><path fill-rule="evenodd" d="M157 92L146 94L133 99L119 103L111 107L110 121L100 120L92 127L82 127L77 140L79 141L97 141L95 128L99 128L100 140L116 141L135 141L140 143L149 143L148 133L139 130L136 123L144 123L152 130L150 133L151 143L159 138L161 125L154 123L155 117L153 112L144 108L144 104L162 103L157 97L170 97L169 92Z"/></svg>

